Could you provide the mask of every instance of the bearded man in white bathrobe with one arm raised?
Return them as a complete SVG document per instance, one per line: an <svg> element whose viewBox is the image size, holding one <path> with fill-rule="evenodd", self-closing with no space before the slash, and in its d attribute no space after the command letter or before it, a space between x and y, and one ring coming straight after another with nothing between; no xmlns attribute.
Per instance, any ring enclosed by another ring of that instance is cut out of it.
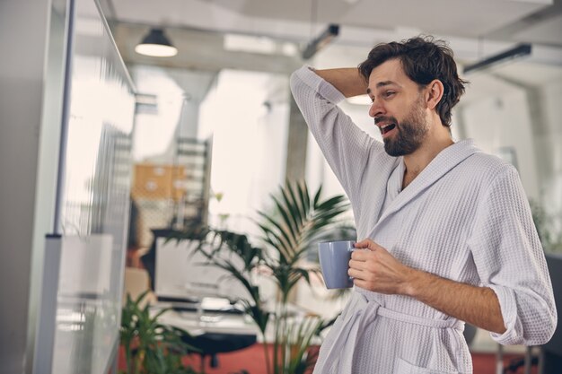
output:
<svg viewBox="0 0 562 374"><path fill-rule="evenodd" d="M452 140L464 83L452 50L430 37L380 44L358 69L293 74L363 249L315 374L471 373L463 321L500 344L544 344L554 333L552 286L517 171ZM337 106L365 92L384 144Z"/></svg>

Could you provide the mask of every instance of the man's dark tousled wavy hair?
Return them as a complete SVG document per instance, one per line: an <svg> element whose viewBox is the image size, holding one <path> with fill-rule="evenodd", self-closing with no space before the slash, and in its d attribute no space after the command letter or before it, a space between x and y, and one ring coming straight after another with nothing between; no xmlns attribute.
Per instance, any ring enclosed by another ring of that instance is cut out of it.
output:
<svg viewBox="0 0 562 374"><path fill-rule="evenodd" d="M457 65L453 59L452 49L443 40L431 36L392 41L377 44L364 62L359 64L359 73L366 82L373 69L382 63L399 59L408 78L417 83L420 88L425 87L434 79L443 83L443 98L437 104L437 112L443 126L451 126L451 109L464 93L464 81L457 74Z"/></svg>

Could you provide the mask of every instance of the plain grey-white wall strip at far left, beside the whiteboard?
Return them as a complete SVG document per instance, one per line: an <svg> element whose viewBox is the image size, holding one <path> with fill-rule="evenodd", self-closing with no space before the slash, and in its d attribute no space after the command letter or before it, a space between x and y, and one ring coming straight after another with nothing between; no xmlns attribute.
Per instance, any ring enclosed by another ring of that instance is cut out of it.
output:
<svg viewBox="0 0 562 374"><path fill-rule="evenodd" d="M48 0L0 2L2 374L30 369L26 344L49 13Z"/></svg>

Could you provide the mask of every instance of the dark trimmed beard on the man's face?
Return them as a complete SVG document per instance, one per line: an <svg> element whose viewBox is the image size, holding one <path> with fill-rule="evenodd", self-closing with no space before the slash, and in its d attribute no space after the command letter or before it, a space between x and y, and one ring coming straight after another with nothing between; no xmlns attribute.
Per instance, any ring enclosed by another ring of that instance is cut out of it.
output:
<svg viewBox="0 0 562 374"><path fill-rule="evenodd" d="M410 109L408 115L399 122L395 117L379 117L386 122L396 124L397 134L393 137L383 139L384 150L393 157L404 156L416 152L419 146L426 139L429 128L427 126L424 109L422 106L423 98L420 97Z"/></svg>

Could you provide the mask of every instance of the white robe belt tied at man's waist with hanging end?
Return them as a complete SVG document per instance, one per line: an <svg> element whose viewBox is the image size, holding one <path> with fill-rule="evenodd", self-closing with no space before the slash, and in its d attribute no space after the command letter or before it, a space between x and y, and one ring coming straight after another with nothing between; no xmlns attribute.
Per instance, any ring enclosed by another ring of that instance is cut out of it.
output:
<svg viewBox="0 0 562 374"><path fill-rule="evenodd" d="M353 300L344 311L345 316L339 326L339 335L329 347L329 352L323 354L321 368L315 368L315 373L352 374L353 355L356 344L360 341L367 326L373 323L377 316L391 318L409 324L434 328L453 328L462 332L464 322L452 319L432 319L412 316L386 309L374 300L367 300L364 295L354 291Z"/></svg>

